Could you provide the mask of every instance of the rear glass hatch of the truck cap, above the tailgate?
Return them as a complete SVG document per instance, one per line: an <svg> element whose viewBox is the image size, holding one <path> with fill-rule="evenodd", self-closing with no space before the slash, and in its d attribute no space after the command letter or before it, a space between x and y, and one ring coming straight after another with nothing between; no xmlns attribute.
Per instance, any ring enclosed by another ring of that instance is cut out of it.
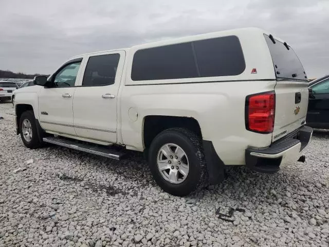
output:
<svg viewBox="0 0 329 247"><path fill-rule="evenodd" d="M306 81L305 70L293 48L266 34L264 37L271 53L277 79Z"/></svg>

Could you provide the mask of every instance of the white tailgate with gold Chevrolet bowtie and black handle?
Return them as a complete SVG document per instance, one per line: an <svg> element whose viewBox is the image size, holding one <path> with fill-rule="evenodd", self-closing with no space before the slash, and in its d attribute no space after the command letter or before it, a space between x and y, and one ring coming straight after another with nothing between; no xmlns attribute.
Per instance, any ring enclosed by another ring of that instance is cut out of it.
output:
<svg viewBox="0 0 329 247"><path fill-rule="evenodd" d="M277 81L276 112L272 142L305 124L308 105L308 83Z"/></svg>

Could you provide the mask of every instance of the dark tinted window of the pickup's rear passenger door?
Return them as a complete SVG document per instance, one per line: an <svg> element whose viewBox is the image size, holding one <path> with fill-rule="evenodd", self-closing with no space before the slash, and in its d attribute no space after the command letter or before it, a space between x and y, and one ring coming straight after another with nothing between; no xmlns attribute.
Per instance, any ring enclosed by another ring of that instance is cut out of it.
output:
<svg viewBox="0 0 329 247"><path fill-rule="evenodd" d="M119 54L90 57L83 76L82 85L102 86L114 84L119 59Z"/></svg>

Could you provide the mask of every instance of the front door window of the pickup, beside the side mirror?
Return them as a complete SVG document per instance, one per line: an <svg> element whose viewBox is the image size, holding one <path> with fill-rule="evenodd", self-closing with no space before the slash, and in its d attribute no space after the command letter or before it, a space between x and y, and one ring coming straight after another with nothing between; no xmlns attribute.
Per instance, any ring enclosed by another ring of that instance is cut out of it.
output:
<svg viewBox="0 0 329 247"><path fill-rule="evenodd" d="M54 86L74 86L81 62L70 63L63 67L55 76Z"/></svg>

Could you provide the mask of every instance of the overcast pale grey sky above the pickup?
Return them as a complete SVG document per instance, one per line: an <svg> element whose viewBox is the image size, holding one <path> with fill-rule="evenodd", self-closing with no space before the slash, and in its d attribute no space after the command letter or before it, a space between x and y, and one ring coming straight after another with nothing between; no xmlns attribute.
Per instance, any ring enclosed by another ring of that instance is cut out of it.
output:
<svg viewBox="0 0 329 247"><path fill-rule="evenodd" d="M71 56L240 27L287 41L329 74L329 0L0 1L0 69L50 74Z"/></svg>

